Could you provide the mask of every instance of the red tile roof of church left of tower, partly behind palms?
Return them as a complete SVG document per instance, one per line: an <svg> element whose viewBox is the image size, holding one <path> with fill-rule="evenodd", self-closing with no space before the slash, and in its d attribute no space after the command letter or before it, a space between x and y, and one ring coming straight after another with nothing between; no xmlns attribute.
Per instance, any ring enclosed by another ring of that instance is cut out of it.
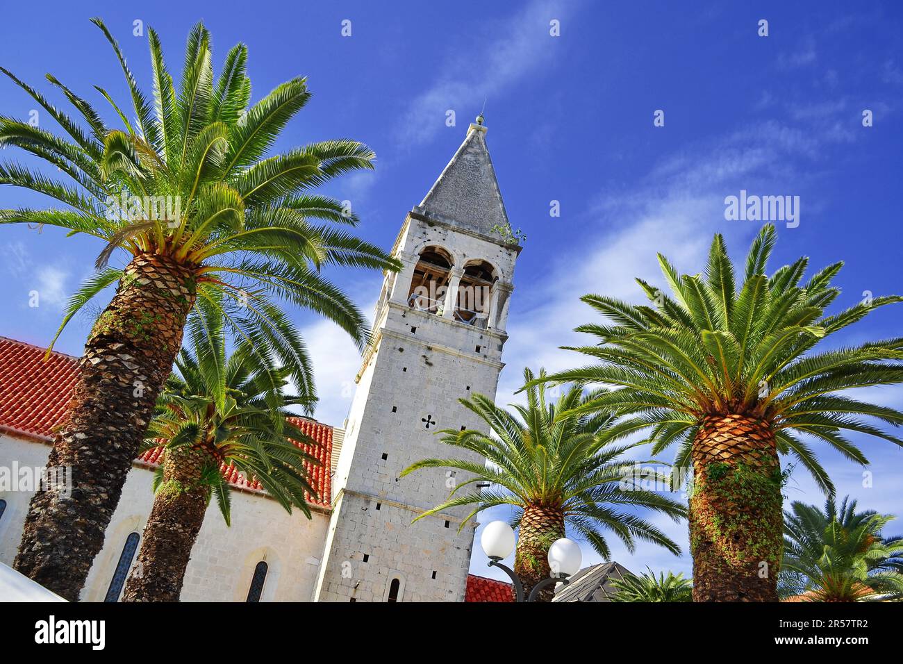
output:
<svg viewBox="0 0 903 664"><path fill-rule="evenodd" d="M53 351L45 361L46 351L23 341L0 337L0 431L51 441L52 429L66 414L75 388L79 360ZM308 499L314 505L329 507L332 427L306 417L292 417L291 421L318 443L295 443L321 462L321 465L305 463L311 485L319 494L317 500L311 496ZM157 465L162 452L163 448L155 447L136 461ZM248 481L234 466L223 464L220 470L239 489L263 491L260 482Z"/></svg>

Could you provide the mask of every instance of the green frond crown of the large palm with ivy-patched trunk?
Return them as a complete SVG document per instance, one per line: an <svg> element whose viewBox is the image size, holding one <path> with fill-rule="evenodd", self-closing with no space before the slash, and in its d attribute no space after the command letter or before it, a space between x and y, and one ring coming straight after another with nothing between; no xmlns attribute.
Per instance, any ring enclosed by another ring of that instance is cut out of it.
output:
<svg viewBox="0 0 903 664"><path fill-rule="evenodd" d="M637 280L658 317L605 295L585 296L587 304L614 323L577 328L599 341L569 348L590 363L535 379L527 388L541 382L613 386L576 412L617 413L624 419L611 427L613 435L648 430L656 454L679 445L675 466L686 465L691 434L706 416L752 417L767 423L777 436L779 452L802 463L824 491L833 491L806 440L826 444L857 463L866 463L865 457L844 431L901 444L899 436L861 417L899 426L903 413L841 393L903 382L903 364L894 361L903 360L903 342L870 341L826 351L815 347L901 298L875 297L826 314L825 307L839 293L831 282L842 263L825 267L802 287L805 257L768 277L776 239L772 226L762 228L749 249L739 285L721 235L712 240L704 280L680 275L659 255L671 296Z"/></svg>

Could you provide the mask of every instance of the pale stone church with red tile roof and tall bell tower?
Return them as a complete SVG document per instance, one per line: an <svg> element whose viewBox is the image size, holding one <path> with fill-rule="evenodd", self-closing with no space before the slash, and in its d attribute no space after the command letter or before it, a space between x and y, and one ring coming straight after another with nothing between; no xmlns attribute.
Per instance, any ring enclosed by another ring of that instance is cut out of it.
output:
<svg viewBox="0 0 903 664"><path fill-rule="evenodd" d="M486 145L482 117L424 200L407 213L386 274L373 339L342 426L299 417L317 445L312 519L291 515L254 478L223 467L232 526L215 509L192 550L182 601L505 601L509 586L468 574L476 524L468 510L413 519L448 497L463 473L408 465L449 450L435 432L480 428L461 397L495 397L520 247ZM12 565L40 468L69 403L77 360L0 338L0 562ZM350 378L350 377L349 377ZM457 454L457 452L456 452ZM135 460L82 601L116 602L154 500L159 450ZM473 461L482 461L474 457ZM15 472L13 472L15 471Z"/></svg>

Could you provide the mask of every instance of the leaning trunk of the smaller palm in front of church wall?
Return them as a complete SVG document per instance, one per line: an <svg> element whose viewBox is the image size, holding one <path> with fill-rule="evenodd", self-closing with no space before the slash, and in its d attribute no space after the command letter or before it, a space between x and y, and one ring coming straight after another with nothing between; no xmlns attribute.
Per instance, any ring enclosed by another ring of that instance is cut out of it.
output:
<svg viewBox="0 0 903 664"><path fill-rule="evenodd" d="M144 527L138 560L126 582L123 602L178 602L191 548L210 499L203 482L206 466L219 463L203 447L166 450L163 482Z"/></svg>

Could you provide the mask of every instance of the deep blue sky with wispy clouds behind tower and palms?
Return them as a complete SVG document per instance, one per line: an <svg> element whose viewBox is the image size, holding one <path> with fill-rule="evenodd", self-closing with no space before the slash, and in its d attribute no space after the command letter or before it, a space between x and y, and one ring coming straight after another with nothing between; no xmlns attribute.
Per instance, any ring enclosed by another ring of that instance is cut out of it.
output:
<svg viewBox="0 0 903 664"><path fill-rule="evenodd" d="M238 41L249 47L254 99L298 74L312 101L276 149L348 136L377 152L377 170L330 185L363 219L360 234L390 248L405 212L421 201L486 101L488 143L508 216L526 232L517 264L500 402L510 401L522 368L563 369L579 361L559 345L592 314L579 295L639 297L634 276L657 281L656 251L688 272L702 270L712 233L742 257L759 224L724 219L724 197L740 190L800 197L797 228L778 225L773 267L800 255L822 267L843 259L836 307L903 293L899 245L903 48L898 3L535 2L270 4L157 2L7 4L0 64L62 104L43 74L102 100L93 84L124 98L121 73L88 17L99 15L122 43L137 79L150 85L146 39L133 22L160 33L175 67L191 24L213 34L216 62ZM768 36L757 34L768 20ZM349 20L351 36L341 35ZM551 36L550 21L560 22ZM28 117L31 98L0 80L0 113ZM657 109L665 126L653 126ZM873 126L862 126L862 111ZM453 110L457 126L446 126ZM51 120L41 116L42 126ZM112 122L112 119L111 119ZM0 160L19 158L12 149ZM27 160L23 160L27 161ZM549 214L560 201L561 216ZM0 189L0 207L41 204ZM61 306L88 275L99 247L19 227L2 229L0 334L46 344ZM369 312L380 277L334 275ZM29 292L41 306L28 306ZM340 424L358 367L353 346L303 313L317 369L323 421ZM853 327L843 342L898 336L903 309L887 308ZM90 321L70 325L58 350L80 354ZM903 388L870 390L903 407ZM859 439L872 461L862 469L823 451L838 492L863 507L900 513L903 451ZM820 502L805 472L792 500ZM492 515L497 516L497 515ZM488 522L490 517L484 517ZM685 524L663 528L685 547ZM903 530L903 524L898 530ZM475 547L473 571L491 575ZM585 547L584 547L585 548ZM689 571L640 545L628 568ZM593 560L589 552L585 560Z"/></svg>

